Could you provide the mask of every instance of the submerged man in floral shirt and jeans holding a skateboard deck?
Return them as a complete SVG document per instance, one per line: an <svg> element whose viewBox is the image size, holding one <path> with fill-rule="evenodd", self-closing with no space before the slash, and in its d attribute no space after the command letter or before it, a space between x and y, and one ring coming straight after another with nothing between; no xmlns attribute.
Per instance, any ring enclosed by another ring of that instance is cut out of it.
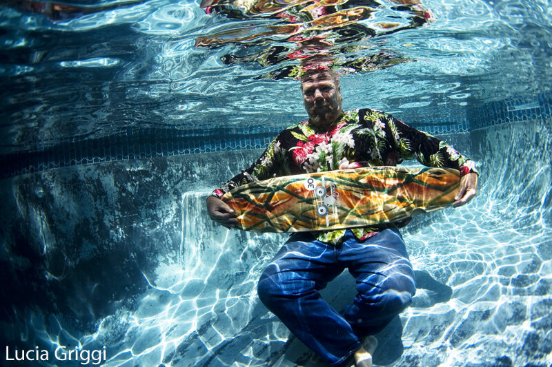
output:
<svg viewBox="0 0 552 367"><path fill-rule="evenodd" d="M339 77L312 67L301 78L308 120L284 129L253 165L207 199L210 218L237 224L220 198L240 185L276 176L370 166L394 166L417 158L428 167L461 172L454 206L477 192L472 160L441 140L384 112L344 112ZM404 311L415 293L415 277L397 227L294 233L268 264L257 287L260 300L290 331L333 366L372 366L373 336ZM355 277L357 295L341 312L319 290L345 268Z"/></svg>

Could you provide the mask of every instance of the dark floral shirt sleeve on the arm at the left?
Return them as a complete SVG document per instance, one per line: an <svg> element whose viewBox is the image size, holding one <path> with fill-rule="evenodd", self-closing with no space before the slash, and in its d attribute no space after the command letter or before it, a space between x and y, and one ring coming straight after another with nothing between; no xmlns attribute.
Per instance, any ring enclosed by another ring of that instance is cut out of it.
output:
<svg viewBox="0 0 552 367"><path fill-rule="evenodd" d="M282 169L286 167L286 158L284 157L284 151L280 143L280 135L278 135L253 165L250 165L248 169L230 178L224 185L210 193L210 196L221 198L225 193L235 187L246 185L249 182L266 180L270 177L279 176L279 171L282 171Z"/></svg>

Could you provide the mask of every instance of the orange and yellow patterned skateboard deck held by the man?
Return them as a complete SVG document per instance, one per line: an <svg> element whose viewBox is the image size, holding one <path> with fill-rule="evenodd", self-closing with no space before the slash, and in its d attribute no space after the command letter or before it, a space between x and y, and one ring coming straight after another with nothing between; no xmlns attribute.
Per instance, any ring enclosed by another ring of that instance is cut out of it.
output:
<svg viewBox="0 0 552 367"><path fill-rule="evenodd" d="M448 207L459 185L457 169L365 167L250 182L222 200L244 231L330 231Z"/></svg>

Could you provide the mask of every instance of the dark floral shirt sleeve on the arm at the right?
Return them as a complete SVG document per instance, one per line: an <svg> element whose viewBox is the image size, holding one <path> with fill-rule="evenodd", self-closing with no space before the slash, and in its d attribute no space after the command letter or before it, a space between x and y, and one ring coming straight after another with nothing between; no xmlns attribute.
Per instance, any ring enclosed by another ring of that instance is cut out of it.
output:
<svg viewBox="0 0 552 367"><path fill-rule="evenodd" d="M391 144L402 159L416 158L422 165L428 167L447 167L460 171L464 176L471 172L479 175L475 162L460 154L451 145L425 132L402 123L400 120L387 116L387 129Z"/></svg>

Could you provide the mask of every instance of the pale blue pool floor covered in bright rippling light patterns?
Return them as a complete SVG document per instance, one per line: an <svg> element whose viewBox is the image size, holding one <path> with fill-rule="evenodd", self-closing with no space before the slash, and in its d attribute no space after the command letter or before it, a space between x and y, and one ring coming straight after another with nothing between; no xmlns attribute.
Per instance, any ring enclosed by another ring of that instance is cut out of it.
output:
<svg viewBox="0 0 552 367"><path fill-rule="evenodd" d="M415 268L446 281L453 295L449 302L432 304L427 291L418 292L401 316L405 351L398 366L406 366L408 357L416 357L420 366L491 366L502 355L513 366L535 361L535 355L526 353L531 348L527 343L549 331L552 261L544 251L552 251L552 235L543 235L542 222L517 229L496 225L502 217L480 208L488 207L482 191L463 211L447 210L430 227L405 235ZM192 195L190 201L203 198ZM459 222L464 223L460 228ZM288 331L259 305L255 284L270 247L275 248L269 242L282 237L261 235L259 240L248 235L240 254L231 249L237 245L233 232L213 233L219 237L209 238L204 253L212 253L214 266L199 253L188 254L184 264L160 266L157 287L142 296L137 310L104 319L95 335L81 338L83 347L90 347L88 340L103 340L111 352L117 350L107 366L266 366L284 346ZM254 253L255 261L247 261L251 269L235 269L235 255ZM236 275L239 271L244 275ZM239 277L239 283L232 277ZM217 286L224 283L230 288ZM547 353L542 350L542 361L549 363ZM286 359L273 364L295 365Z"/></svg>

